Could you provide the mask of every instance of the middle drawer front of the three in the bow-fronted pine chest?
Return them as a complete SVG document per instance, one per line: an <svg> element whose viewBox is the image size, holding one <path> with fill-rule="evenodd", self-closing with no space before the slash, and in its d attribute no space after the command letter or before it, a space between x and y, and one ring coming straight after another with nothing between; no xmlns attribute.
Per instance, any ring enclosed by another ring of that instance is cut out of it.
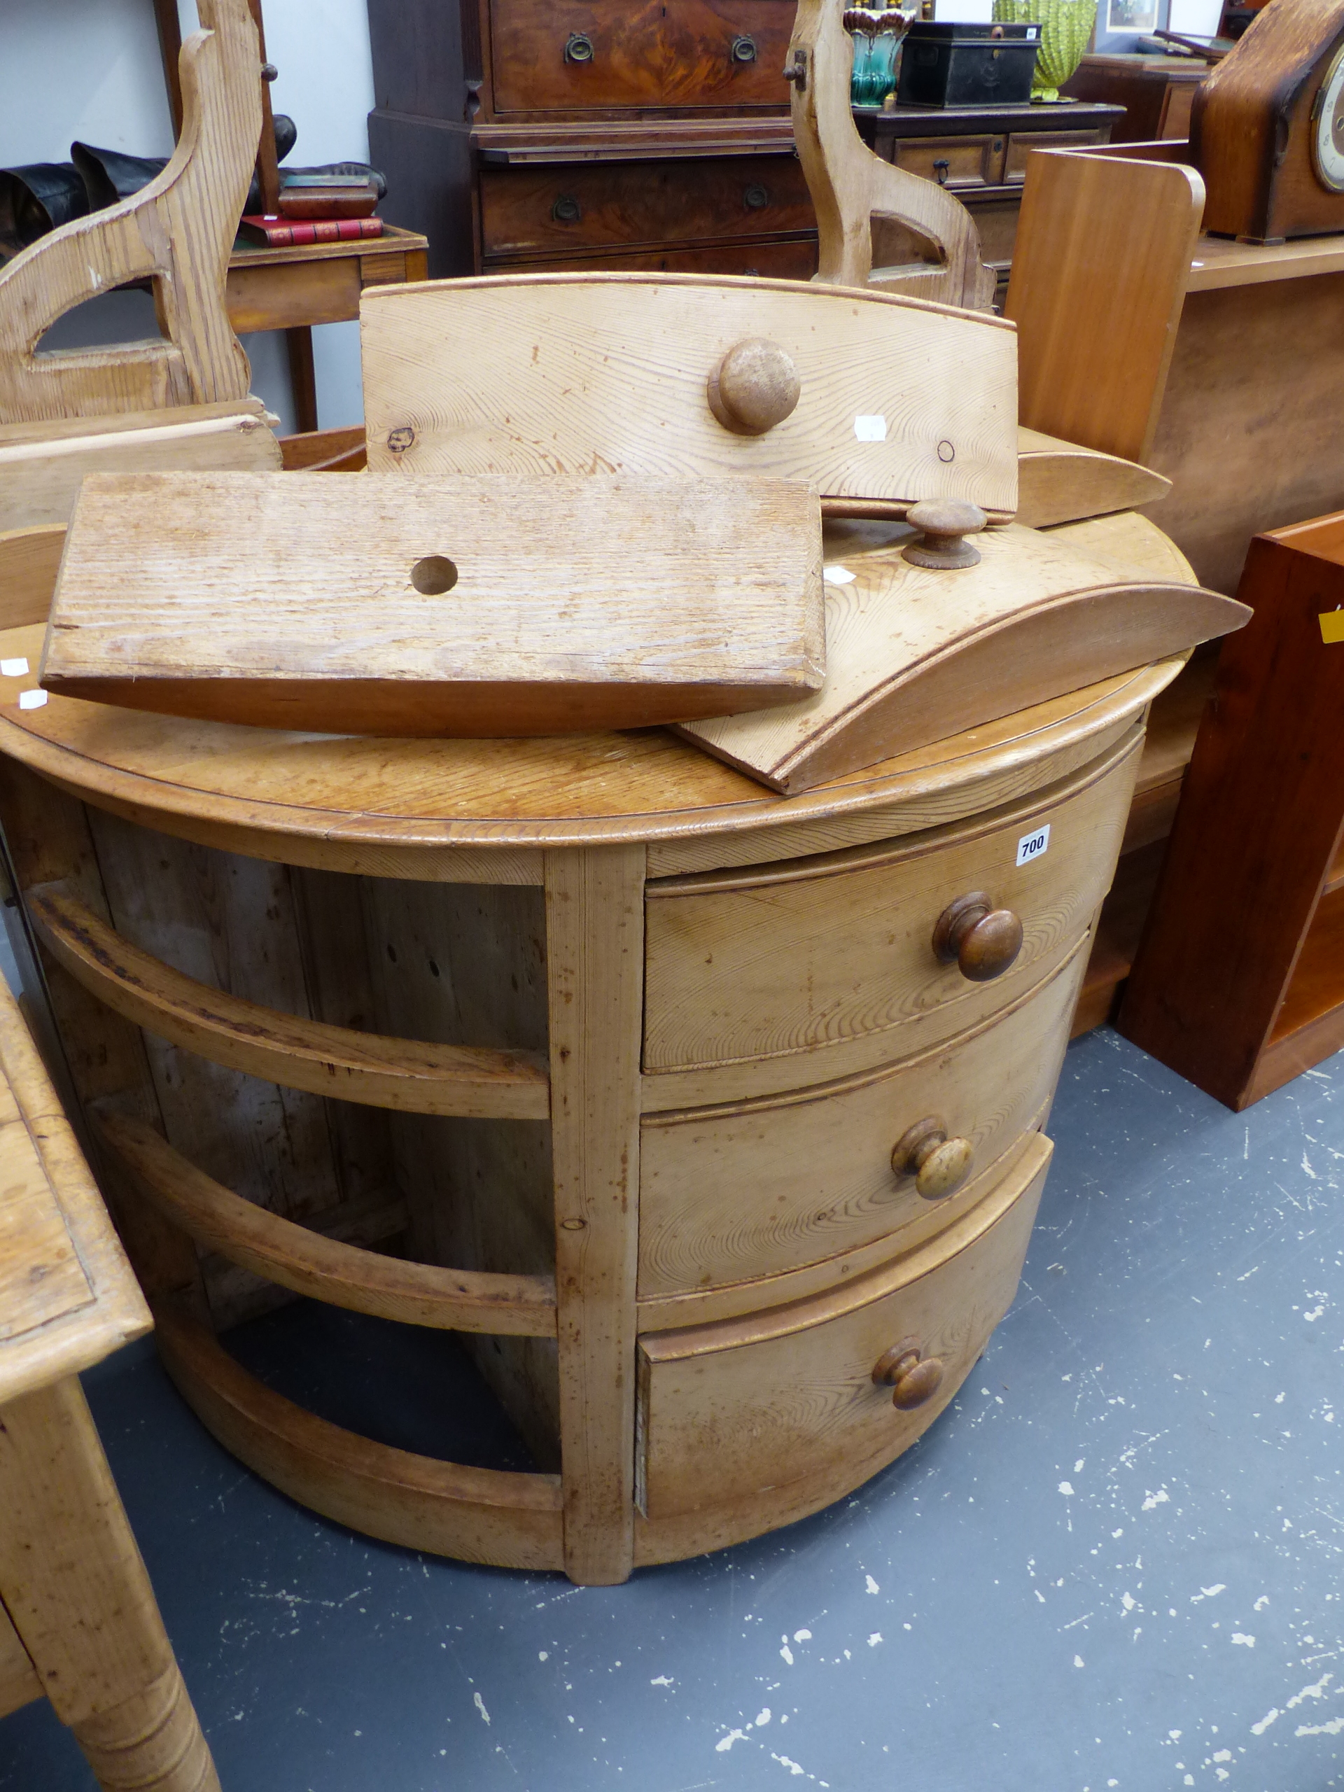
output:
<svg viewBox="0 0 1344 1792"><path fill-rule="evenodd" d="M1082 939L1005 1014L894 1068L778 1100L647 1116L640 1299L787 1274L878 1238L910 1249L946 1226L962 1197L993 1186L995 1165L1048 1107L1086 962ZM930 1118L975 1150L941 1201L891 1161L896 1140Z"/></svg>

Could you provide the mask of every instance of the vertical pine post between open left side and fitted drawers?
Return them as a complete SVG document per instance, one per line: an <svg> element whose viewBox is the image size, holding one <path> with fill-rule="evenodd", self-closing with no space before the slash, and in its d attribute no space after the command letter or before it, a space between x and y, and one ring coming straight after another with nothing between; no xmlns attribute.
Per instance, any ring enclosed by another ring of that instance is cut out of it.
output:
<svg viewBox="0 0 1344 1792"><path fill-rule="evenodd" d="M547 853L564 1568L599 1586L634 1548L643 860Z"/></svg>

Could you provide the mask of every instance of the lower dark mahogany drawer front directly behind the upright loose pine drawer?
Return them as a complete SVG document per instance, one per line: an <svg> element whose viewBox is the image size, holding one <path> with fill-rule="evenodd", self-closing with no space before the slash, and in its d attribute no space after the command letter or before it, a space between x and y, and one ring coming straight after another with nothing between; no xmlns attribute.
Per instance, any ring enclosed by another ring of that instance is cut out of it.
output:
<svg viewBox="0 0 1344 1792"><path fill-rule="evenodd" d="M794 156L609 161L484 168L484 256L812 231L817 219Z"/></svg>

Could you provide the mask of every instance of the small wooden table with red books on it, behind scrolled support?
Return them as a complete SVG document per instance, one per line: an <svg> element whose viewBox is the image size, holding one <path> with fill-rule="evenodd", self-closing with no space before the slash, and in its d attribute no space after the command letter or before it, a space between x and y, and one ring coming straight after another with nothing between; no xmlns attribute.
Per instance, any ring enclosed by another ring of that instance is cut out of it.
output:
<svg viewBox="0 0 1344 1792"><path fill-rule="evenodd" d="M367 242L315 242L301 249L235 249L224 301L242 335L283 330L299 432L317 428L312 326L351 323L366 287L428 278L428 242L383 226Z"/></svg>

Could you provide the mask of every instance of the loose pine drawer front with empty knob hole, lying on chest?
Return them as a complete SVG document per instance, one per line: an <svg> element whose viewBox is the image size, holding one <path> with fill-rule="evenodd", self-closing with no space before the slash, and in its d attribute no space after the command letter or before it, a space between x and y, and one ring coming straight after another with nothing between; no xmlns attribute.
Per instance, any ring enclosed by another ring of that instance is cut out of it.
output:
<svg viewBox="0 0 1344 1792"><path fill-rule="evenodd" d="M819 561L783 480L102 475L41 679L337 733L643 726L817 690Z"/></svg>

